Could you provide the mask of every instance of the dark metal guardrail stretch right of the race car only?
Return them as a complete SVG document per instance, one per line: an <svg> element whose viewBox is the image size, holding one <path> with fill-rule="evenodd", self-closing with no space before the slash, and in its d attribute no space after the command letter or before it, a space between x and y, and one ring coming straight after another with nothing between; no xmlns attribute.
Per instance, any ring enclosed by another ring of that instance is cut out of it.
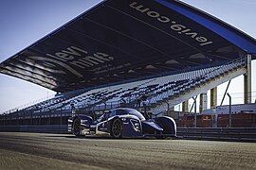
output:
<svg viewBox="0 0 256 170"><path fill-rule="evenodd" d="M256 127L177 128L183 139L256 142Z"/></svg>

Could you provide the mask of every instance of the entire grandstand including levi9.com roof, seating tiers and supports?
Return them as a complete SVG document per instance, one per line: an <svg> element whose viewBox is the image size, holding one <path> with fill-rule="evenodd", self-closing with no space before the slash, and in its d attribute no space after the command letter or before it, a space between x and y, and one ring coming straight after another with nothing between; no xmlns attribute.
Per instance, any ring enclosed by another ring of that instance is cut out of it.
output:
<svg viewBox="0 0 256 170"><path fill-rule="evenodd" d="M66 125L72 112L123 106L189 112L188 100L209 90L216 107L215 88L241 75L251 102L253 38L179 1L139 2L103 1L2 62L1 73L57 94L5 112L0 125Z"/></svg>

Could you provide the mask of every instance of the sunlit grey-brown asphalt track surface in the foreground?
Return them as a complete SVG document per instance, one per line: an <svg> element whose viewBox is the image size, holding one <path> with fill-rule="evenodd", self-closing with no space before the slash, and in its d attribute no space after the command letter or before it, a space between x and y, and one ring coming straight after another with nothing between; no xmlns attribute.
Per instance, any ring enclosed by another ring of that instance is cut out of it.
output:
<svg viewBox="0 0 256 170"><path fill-rule="evenodd" d="M256 144L0 133L0 169L256 169Z"/></svg>

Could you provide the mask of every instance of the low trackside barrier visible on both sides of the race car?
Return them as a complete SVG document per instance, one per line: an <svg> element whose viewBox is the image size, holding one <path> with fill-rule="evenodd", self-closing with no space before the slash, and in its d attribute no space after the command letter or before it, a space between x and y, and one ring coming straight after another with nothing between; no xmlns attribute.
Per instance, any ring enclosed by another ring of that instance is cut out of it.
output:
<svg viewBox="0 0 256 170"><path fill-rule="evenodd" d="M41 133L69 133L67 125L16 125L1 126L0 131L13 132L41 132ZM220 140L220 141L246 141L256 142L255 127L231 128L177 128L177 136L183 139Z"/></svg>

